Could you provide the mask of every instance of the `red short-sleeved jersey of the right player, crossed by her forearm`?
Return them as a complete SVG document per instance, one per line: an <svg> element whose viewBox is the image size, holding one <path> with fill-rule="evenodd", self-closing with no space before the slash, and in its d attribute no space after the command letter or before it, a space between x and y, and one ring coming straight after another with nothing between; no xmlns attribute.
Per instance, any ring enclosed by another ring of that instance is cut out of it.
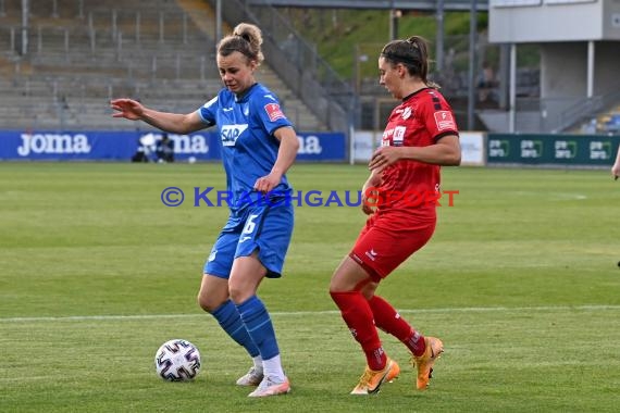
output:
<svg viewBox="0 0 620 413"><path fill-rule="evenodd" d="M382 146L427 147L446 135L458 135L450 105L436 89L425 88L402 99L387 120ZM377 212L405 213L398 225L405 227L435 221L439 197L441 167L401 160L383 170ZM414 222L411 222L413 215ZM396 223L395 223L396 224Z"/></svg>

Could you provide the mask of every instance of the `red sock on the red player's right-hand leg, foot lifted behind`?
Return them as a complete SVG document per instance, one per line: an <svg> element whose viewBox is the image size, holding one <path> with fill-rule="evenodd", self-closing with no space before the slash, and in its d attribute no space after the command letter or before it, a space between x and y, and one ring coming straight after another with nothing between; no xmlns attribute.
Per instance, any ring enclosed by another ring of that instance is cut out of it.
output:
<svg viewBox="0 0 620 413"><path fill-rule="evenodd" d="M383 298L373 296L368 301L375 325L402 341L413 355L422 355L426 350L424 337L411 327L400 314Z"/></svg>

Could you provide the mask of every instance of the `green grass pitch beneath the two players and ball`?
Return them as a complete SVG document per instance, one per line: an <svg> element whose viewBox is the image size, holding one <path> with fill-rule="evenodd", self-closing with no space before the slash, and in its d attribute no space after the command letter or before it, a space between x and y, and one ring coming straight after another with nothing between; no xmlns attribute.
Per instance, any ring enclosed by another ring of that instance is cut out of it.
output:
<svg viewBox="0 0 620 413"><path fill-rule="evenodd" d="M364 166L297 164L297 190L344 193ZM425 392L402 373L348 395L364 366L327 293L364 216L296 209L285 276L265 280L290 395L234 385L243 349L199 310L202 263L226 208L219 164L0 163L2 412L616 412L620 405L620 184L608 171L444 168L454 205L379 293L446 352ZM166 208L161 191L186 192ZM193 383L154 374L158 347L193 341Z"/></svg>

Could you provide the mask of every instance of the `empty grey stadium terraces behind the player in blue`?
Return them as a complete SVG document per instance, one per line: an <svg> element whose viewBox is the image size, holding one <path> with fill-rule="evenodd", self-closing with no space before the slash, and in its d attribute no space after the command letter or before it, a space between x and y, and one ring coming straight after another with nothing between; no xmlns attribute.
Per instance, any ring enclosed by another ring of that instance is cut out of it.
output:
<svg viewBox="0 0 620 413"><path fill-rule="evenodd" d="M111 98L189 112L221 88L214 13L204 1L29 3L22 54L22 2L0 0L1 128L132 129L136 125L110 116ZM299 130L325 129L269 62L257 77L278 95Z"/></svg>

